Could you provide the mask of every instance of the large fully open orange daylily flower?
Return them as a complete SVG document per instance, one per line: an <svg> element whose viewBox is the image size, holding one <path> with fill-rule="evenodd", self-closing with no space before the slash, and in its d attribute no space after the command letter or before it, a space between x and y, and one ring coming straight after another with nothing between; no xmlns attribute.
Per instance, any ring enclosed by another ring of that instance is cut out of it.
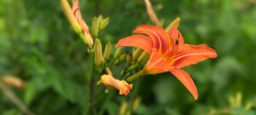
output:
<svg viewBox="0 0 256 115"><path fill-rule="evenodd" d="M165 32L158 26L137 26L133 31L137 33L136 35L119 40L116 46L137 47L148 52L151 56L143 71L148 74L172 72L196 100L198 94L195 83L189 74L181 68L207 58L216 58L217 54L206 44L190 45L184 43L177 28L172 27L170 30Z"/></svg>

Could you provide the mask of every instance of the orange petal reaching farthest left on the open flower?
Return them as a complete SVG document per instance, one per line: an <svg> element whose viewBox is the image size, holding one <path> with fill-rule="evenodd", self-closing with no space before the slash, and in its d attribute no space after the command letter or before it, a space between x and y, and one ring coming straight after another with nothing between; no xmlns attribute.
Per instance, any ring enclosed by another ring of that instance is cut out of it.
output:
<svg viewBox="0 0 256 115"><path fill-rule="evenodd" d="M119 40L115 46L131 46L137 47L147 51L149 54L152 49L152 40L143 35L132 35L130 37L125 37Z"/></svg>

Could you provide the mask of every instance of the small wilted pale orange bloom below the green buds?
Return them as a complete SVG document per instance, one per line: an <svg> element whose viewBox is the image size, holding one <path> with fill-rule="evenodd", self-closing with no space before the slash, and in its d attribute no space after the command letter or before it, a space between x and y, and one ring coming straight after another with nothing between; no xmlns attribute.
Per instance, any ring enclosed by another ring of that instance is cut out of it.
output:
<svg viewBox="0 0 256 115"><path fill-rule="evenodd" d="M132 84L126 83L124 80L113 78L112 75L102 75L101 83L113 89L119 89L119 95L128 95L132 89Z"/></svg>

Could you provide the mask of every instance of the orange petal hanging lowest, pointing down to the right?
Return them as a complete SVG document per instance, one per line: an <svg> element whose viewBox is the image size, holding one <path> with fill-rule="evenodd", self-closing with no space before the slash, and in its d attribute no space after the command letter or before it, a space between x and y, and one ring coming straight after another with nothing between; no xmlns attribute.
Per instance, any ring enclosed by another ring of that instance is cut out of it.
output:
<svg viewBox="0 0 256 115"><path fill-rule="evenodd" d="M198 94L195 87L195 83L187 72L180 69L170 70L172 74L189 90L190 94L193 95L194 99L197 100Z"/></svg>

